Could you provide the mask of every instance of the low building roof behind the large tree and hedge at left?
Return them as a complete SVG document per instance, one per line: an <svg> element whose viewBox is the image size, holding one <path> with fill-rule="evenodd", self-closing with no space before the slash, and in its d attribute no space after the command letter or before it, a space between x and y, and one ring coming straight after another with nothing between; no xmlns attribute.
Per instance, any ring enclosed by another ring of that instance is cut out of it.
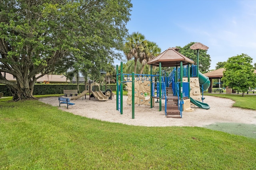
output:
<svg viewBox="0 0 256 170"><path fill-rule="evenodd" d="M4 75L3 72L1 72L2 75ZM39 76L40 74L37 74L36 76ZM16 82L16 78L9 73L6 73L6 79L11 81L11 82ZM66 76L64 75L50 75L46 74L36 80L36 82L70 82L70 80L67 80Z"/></svg>

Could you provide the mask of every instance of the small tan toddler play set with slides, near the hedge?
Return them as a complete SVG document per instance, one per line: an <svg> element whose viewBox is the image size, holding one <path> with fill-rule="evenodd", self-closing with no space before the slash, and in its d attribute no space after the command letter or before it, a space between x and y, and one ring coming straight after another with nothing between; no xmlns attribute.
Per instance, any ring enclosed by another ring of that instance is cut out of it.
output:
<svg viewBox="0 0 256 170"><path fill-rule="evenodd" d="M96 87L95 87L96 86ZM86 94L89 93L89 96L91 96L91 94L99 101L106 101L108 99L112 99L112 92L110 89L107 89L105 94L99 90L100 89L100 84L93 82L93 83L86 83L85 84L85 89L81 94L79 94L78 96L72 96L71 100L77 100L83 96L86 97ZM96 91L95 89L98 89L98 91Z"/></svg>

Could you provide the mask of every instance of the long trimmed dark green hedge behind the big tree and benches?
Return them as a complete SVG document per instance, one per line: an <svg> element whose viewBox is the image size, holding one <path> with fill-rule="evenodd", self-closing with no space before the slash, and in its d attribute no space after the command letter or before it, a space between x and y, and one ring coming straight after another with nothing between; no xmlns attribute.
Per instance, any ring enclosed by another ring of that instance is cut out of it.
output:
<svg viewBox="0 0 256 170"><path fill-rule="evenodd" d="M105 91L111 89L116 91L116 84L107 84L107 86L100 86L100 90ZM63 90L74 90L77 89L77 84L35 84L33 95L46 95L46 94L63 94ZM79 85L80 93L84 91L84 84ZM0 92L4 96L12 96L8 86L5 84L0 84Z"/></svg>

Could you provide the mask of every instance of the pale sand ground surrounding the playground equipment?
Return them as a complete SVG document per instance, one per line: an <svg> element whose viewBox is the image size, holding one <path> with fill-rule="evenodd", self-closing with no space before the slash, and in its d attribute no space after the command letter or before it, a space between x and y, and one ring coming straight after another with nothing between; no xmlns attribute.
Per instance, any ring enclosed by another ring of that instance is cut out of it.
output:
<svg viewBox="0 0 256 170"><path fill-rule="evenodd" d="M71 98L71 97L69 97ZM201 109L191 106L193 112L183 111L182 119L166 118L164 113L164 100L162 100L162 111L159 111L159 103L155 103L154 108L150 106L135 105L135 119L132 119L132 106L126 104L127 96L123 96L123 114L116 110L116 96L112 100L98 101L94 98L89 100L89 96L82 100L71 100L75 103L66 108L65 104L60 105L60 109L75 115L123 123L137 126L197 126L204 127L213 123L245 123L256 125L256 111L232 107L234 101L230 99L205 96L204 102L210 105L210 109ZM52 106L59 106L58 97L40 98L41 102ZM155 100L156 101L156 100Z"/></svg>

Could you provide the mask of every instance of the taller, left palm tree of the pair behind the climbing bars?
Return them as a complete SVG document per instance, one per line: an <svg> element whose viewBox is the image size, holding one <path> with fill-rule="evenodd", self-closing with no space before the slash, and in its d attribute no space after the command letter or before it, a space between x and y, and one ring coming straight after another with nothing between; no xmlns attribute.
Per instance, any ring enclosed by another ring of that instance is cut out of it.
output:
<svg viewBox="0 0 256 170"><path fill-rule="evenodd" d="M139 32L133 32L126 39L126 43L124 44L124 54L126 55L126 59L129 61L134 59L134 73L136 73L137 61L140 58L140 49L144 47L147 40L145 40L145 36Z"/></svg>

